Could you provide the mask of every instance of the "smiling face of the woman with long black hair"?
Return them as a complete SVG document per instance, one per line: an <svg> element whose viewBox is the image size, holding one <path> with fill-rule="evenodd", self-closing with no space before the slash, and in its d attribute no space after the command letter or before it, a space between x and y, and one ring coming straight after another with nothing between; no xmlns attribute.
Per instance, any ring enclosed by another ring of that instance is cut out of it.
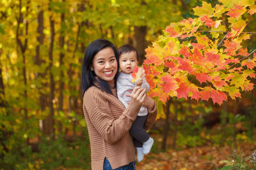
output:
<svg viewBox="0 0 256 170"><path fill-rule="evenodd" d="M91 69L102 80L113 80L117 72L117 61L113 49L107 47L96 53Z"/></svg>

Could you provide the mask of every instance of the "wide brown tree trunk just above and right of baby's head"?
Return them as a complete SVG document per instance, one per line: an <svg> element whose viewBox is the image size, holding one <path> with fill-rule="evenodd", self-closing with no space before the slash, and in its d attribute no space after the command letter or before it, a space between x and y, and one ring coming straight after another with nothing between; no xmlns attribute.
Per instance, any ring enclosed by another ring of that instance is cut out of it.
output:
<svg viewBox="0 0 256 170"><path fill-rule="evenodd" d="M134 42L133 45L138 50L140 64L143 63L145 58L145 49L147 48L147 26L134 27Z"/></svg>

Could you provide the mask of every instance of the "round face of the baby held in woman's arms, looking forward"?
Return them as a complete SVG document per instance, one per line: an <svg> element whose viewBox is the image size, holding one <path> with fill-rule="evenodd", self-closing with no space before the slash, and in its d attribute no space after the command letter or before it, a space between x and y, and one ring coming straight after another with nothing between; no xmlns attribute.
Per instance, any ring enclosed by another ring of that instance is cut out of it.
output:
<svg viewBox="0 0 256 170"><path fill-rule="evenodd" d="M136 52L122 53L119 58L119 65L122 72L132 73L134 67L138 65Z"/></svg>

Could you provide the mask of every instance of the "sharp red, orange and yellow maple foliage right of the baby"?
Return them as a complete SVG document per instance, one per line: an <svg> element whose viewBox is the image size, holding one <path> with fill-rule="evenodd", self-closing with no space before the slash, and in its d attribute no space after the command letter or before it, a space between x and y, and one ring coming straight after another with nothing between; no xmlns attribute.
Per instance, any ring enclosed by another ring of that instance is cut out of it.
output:
<svg viewBox="0 0 256 170"><path fill-rule="evenodd" d="M216 6L203 2L193 8L195 18L171 23L146 49L143 62L150 96L221 104L252 90L256 53L248 52L243 32L256 12L254 0L220 0Z"/></svg>

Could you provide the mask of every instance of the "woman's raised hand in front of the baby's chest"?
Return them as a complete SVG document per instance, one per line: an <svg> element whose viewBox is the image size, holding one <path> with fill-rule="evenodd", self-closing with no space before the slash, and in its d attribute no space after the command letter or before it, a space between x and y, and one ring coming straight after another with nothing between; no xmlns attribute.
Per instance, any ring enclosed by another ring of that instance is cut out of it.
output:
<svg viewBox="0 0 256 170"><path fill-rule="evenodd" d="M138 105L138 107L141 107L143 102L145 101L146 89L143 89L141 87L134 87L131 94L126 94L126 96L131 97L131 101L129 105Z"/></svg>

